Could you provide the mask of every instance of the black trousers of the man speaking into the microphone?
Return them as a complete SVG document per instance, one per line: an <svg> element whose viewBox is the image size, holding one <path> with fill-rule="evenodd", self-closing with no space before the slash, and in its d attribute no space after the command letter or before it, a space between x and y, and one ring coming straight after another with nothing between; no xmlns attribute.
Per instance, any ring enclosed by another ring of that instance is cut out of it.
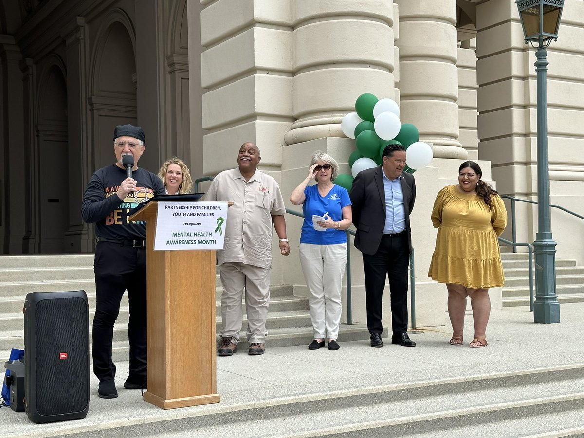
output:
<svg viewBox="0 0 584 438"><path fill-rule="evenodd" d="M146 248L99 242L95 248L96 306L93 317L93 373L100 381L116 376L113 325L128 291L130 375L146 378Z"/></svg>

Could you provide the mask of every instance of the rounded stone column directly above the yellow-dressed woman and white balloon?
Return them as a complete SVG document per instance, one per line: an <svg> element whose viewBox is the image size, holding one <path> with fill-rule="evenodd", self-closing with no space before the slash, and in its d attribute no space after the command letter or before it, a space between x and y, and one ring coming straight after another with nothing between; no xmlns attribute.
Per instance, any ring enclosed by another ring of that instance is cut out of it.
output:
<svg viewBox="0 0 584 438"><path fill-rule="evenodd" d="M402 123L413 123L434 158L468 157L458 141L456 0L395 0L399 8Z"/></svg>

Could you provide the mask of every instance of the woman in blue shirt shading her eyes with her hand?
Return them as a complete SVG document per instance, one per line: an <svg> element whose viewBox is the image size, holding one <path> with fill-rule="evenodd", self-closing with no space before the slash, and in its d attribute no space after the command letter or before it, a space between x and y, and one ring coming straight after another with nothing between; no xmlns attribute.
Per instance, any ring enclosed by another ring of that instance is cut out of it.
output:
<svg viewBox="0 0 584 438"><path fill-rule="evenodd" d="M314 152L308 176L290 194L290 202L302 204L304 223L300 236L300 264L308 287L314 340L308 346L338 350L342 288L347 262L345 229L352 223L351 200L343 187L333 184L339 165L328 154ZM312 179L317 184L308 186ZM313 224L312 216L320 216Z"/></svg>

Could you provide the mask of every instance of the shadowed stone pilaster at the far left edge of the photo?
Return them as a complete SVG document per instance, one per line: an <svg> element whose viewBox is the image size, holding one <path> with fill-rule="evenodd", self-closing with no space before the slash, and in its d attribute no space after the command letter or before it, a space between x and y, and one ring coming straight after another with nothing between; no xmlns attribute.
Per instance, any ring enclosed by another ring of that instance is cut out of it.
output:
<svg viewBox="0 0 584 438"><path fill-rule="evenodd" d="M13 37L2 36L0 39L0 65L4 84L2 116L4 117L4 178L2 192L5 196L2 214L4 226L4 253L19 254L23 252L25 235L25 199L26 190L22 183L26 175L25 167L25 98L23 95L22 71L20 62L22 53ZM3 197L4 197L3 196Z"/></svg>

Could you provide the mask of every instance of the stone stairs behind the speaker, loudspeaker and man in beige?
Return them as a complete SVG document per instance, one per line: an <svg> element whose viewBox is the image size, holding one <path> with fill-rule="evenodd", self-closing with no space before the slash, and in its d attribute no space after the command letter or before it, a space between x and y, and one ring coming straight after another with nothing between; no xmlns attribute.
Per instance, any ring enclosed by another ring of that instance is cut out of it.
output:
<svg viewBox="0 0 584 438"><path fill-rule="evenodd" d="M0 256L0 359L8 360L11 348L24 347L22 307L27 293L85 290L89 299L89 331L95 312L93 254ZM220 298L223 287L217 274L217 331L221 326ZM266 347L308 345L312 325L308 300L295 297L293 286L270 287L270 310ZM121 303L114 326L113 360L128 360L128 300ZM247 321L244 312L240 349L247 349ZM386 336L387 333L384 333ZM341 324L339 341L369 339L364 324Z"/></svg>

